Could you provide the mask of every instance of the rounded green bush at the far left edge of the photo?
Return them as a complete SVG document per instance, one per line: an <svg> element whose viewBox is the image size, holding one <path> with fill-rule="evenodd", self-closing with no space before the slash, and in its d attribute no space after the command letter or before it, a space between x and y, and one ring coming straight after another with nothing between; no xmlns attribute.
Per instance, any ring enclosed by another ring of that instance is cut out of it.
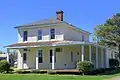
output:
<svg viewBox="0 0 120 80"><path fill-rule="evenodd" d="M6 60L0 61L0 73L9 73L10 65Z"/></svg>

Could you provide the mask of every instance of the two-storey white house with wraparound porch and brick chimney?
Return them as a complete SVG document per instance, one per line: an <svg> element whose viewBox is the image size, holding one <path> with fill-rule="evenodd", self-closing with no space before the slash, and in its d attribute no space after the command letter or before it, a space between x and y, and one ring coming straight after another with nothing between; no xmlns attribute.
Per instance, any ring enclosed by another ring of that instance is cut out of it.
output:
<svg viewBox="0 0 120 80"><path fill-rule="evenodd" d="M63 11L56 12L56 19L15 28L18 42L8 45L7 51L18 51L18 69L76 69L78 61L91 61L95 68L109 67L108 49L89 42L88 31L65 22Z"/></svg>

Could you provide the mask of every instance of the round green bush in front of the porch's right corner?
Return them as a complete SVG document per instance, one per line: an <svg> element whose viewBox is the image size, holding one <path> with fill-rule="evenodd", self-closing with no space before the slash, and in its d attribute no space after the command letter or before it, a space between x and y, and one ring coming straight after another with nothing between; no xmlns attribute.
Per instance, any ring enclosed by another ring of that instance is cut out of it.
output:
<svg viewBox="0 0 120 80"><path fill-rule="evenodd" d="M93 69L93 65L89 61L80 61L77 63L77 69L84 75Z"/></svg>

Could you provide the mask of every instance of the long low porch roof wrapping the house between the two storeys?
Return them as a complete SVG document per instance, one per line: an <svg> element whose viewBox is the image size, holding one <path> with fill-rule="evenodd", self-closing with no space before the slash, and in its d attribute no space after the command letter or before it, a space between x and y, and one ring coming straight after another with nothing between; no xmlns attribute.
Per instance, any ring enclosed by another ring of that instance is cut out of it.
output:
<svg viewBox="0 0 120 80"><path fill-rule="evenodd" d="M96 45L92 42L80 42L80 41L44 41L44 42L26 42L26 43L16 43L5 46L7 48L25 48L25 47L40 47L40 46L62 46L62 45L74 45L74 44L88 44ZM103 47L103 46L102 46Z"/></svg>

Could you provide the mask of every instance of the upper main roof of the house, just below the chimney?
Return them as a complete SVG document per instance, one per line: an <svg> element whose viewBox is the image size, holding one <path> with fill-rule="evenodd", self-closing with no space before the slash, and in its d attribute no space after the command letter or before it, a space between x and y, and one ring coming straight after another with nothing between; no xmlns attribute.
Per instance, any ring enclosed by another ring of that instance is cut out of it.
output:
<svg viewBox="0 0 120 80"><path fill-rule="evenodd" d="M24 24L24 25L20 25L20 26L17 26L15 28L28 28L28 27L34 27L34 26L40 26L40 25L49 25L49 24L57 24L57 23L65 23L67 25L69 25L70 27L76 29L76 30L80 30L80 31L84 31L88 34L91 34L90 32L86 31L86 30L83 30L83 29L80 29L68 22L65 22L65 21L60 21L60 20L57 20L57 19L43 19L43 20L40 20L40 21L36 21L36 22L32 22L32 23L28 23L28 24Z"/></svg>

